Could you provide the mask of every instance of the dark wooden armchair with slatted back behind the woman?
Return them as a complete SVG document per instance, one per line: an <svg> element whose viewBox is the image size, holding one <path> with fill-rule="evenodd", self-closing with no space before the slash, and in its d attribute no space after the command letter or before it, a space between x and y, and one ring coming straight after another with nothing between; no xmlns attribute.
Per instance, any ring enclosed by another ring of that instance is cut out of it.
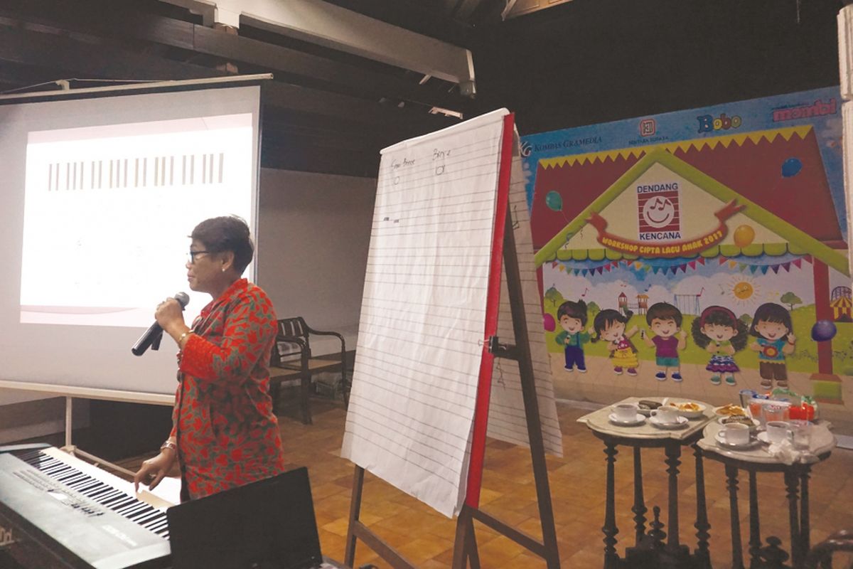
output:
<svg viewBox="0 0 853 569"><path fill-rule="evenodd" d="M335 336L340 340L340 357L320 359L312 357L311 336ZM273 347L270 362L270 393L276 402L281 383L299 379L299 405L302 409L302 422L311 424L311 412L308 404L311 375L320 371L340 370L344 404L349 404L350 384L346 378L346 342L337 332L315 330L305 323L302 316L282 318L278 321L278 335Z"/></svg>

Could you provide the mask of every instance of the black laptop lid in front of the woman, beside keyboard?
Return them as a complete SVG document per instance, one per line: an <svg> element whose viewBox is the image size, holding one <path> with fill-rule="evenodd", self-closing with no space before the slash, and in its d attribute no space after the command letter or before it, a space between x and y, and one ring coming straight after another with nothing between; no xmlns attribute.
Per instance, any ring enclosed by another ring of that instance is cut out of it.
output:
<svg viewBox="0 0 853 569"><path fill-rule="evenodd" d="M305 467L169 508L173 569L334 569Z"/></svg>

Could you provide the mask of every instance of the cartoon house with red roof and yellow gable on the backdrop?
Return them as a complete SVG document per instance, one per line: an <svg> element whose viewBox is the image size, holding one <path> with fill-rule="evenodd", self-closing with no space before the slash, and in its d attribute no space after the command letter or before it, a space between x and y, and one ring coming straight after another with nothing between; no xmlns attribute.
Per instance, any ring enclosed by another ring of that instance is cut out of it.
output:
<svg viewBox="0 0 853 569"><path fill-rule="evenodd" d="M562 197L559 212L545 202L553 191ZM847 276L849 268L810 125L542 160L531 225L540 268L584 263L584 274L595 276L598 264L608 273L622 266L675 279L725 264L773 271L781 287L796 270L811 283L815 321L850 317L849 292L830 298L830 271ZM751 293L743 286L735 294ZM695 314L701 291L681 296L673 302ZM815 397L841 403L832 342L817 343L816 352Z"/></svg>

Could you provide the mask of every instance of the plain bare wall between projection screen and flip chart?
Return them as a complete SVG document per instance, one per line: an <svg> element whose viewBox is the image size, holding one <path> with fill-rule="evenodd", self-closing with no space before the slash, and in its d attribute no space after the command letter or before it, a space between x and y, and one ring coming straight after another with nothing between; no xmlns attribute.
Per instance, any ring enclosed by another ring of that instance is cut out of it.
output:
<svg viewBox="0 0 853 569"><path fill-rule="evenodd" d="M345 335L355 348L376 181L262 169L258 284L279 317ZM334 351L334 340L312 343Z"/></svg>

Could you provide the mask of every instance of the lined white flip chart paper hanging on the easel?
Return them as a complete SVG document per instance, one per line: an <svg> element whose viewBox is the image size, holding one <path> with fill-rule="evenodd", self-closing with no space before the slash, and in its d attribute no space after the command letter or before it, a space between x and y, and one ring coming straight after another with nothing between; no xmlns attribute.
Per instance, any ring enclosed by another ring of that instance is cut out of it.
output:
<svg viewBox="0 0 853 569"><path fill-rule="evenodd" d="M386 148L380 164L341 454L447 516L465 497L506 114ZM526 208L519 188L511 212ZM527 235L533 270L529 227ZM532 279L527 302L541 328L535 270L523 278ZM509 363L515 380L509 395L497 394L496 436L526 443L518 366ZM540 405L549 408L542 396Z"/></svg>

